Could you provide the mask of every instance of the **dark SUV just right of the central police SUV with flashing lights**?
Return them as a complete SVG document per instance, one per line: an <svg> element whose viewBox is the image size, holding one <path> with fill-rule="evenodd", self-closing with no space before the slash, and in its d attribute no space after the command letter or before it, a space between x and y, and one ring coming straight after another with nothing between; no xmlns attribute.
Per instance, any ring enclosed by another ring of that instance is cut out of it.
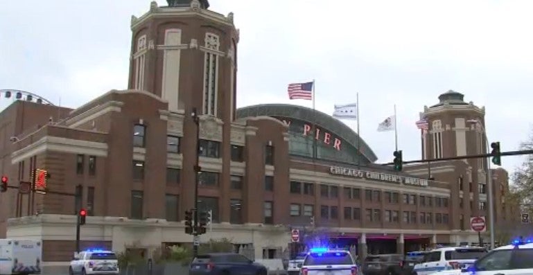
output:
<svg viewBox="0 0 533 275"><path fill-rule="evenodd" d="M362 273L365 275L401 275L403 274L402 267L403 255L369 255L362 265Z"/></svg>

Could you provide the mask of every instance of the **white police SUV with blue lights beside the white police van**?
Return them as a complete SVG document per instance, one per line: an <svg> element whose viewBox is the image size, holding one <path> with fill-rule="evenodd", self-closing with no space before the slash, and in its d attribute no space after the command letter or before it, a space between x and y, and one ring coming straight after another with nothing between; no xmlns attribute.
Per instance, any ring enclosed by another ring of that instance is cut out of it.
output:
<svg viewBox="0 0 533 275"><path fill-rule="evenodd" d="M119 274L119 260L113 251L89 249L74 254L69 274Z"/></svg>

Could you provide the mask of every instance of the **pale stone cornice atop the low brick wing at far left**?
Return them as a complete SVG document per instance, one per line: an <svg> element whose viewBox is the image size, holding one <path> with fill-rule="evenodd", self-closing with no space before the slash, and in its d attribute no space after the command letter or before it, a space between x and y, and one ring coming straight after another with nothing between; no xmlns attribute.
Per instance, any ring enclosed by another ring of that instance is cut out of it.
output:
<svg viewBox="0 0 533 275"><path fill-rule="evenodd" d="M89 154L96 157L107 157L107 143L82 141L58 136L44 136L34 143L12 152L11 163L19 163L46 151L65 152L71 154Z"/></svg>

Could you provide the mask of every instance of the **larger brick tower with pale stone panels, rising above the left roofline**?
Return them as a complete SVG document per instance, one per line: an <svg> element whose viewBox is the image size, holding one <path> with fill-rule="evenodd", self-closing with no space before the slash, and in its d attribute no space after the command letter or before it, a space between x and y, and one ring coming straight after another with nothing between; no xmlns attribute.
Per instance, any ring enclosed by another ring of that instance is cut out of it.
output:
<svg viewBox="0 0 533 275"><path fill-rule="evenodd" d="M149 91L168 101L168 110L233 121L236 106L238 30L233 13L208 10L207 0L150 3L132 17L128 89Z"/></svg>

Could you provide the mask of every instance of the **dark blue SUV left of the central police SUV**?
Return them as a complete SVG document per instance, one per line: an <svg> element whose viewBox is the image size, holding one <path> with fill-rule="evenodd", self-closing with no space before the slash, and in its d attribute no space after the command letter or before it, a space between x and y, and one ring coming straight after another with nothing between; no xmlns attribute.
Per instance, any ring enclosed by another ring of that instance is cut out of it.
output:
<svg viewBox="0 0 533 275"><path fill-rule="evenodd" d="M236 253L211 253L194 258L189 275L267 275L264 265Z"/></svg>

